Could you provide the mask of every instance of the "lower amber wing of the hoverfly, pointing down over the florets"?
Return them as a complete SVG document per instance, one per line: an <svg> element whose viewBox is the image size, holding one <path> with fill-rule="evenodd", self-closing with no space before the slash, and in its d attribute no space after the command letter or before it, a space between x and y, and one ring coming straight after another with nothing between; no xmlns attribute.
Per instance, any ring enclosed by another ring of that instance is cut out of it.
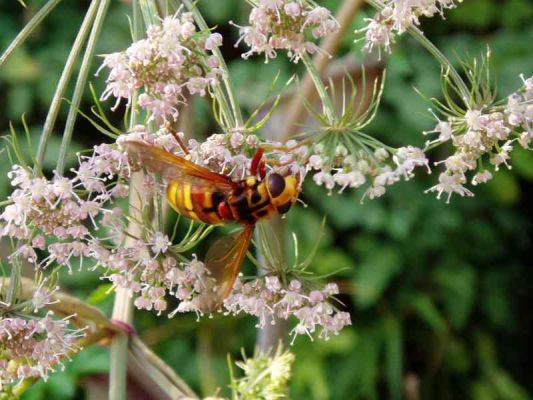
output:
<svg viewBox="0 0 533 400"><path fill-rule="evenodd" d="M216 308L230 294L252 240L253 231L253 225L245 225L241 232L218 239L207 251L205 266L217 282L214 298L209 300L207 308Z"/></svg>

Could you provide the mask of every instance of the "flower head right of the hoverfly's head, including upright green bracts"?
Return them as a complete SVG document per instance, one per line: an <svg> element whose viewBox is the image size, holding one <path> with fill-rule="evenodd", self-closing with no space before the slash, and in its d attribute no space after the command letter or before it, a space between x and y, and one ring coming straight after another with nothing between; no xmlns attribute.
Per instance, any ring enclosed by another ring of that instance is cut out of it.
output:
<svg viewBox="0 0 533 400"><path fill-rule="evenodd" d="M361 92L348 76L351 94L342 85L342 104L334 106L334 96L330 101L332 111L325 115L306 104L309 113L320 124L316 132L311 132L314 144L311 146L305 163L307 172L314 172L313 180L319 186L331 191L338 188L366 187L364 198L374 199L385 194L387 186L400 180L414 177L414 169L428 167L424 151L415 146L392 148L364 132L374 119L383 91L384 77L376 79L371 89L368 103L365 74L362 74ZM331 92L334 92L334 87Z"/></svg>

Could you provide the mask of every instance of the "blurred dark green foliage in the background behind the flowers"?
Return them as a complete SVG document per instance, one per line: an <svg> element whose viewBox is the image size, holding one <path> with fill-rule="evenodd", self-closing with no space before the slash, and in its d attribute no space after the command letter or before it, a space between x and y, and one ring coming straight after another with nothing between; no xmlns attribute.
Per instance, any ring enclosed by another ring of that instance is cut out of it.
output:
<svg viewBox="0 0 533 400"><path fill-rule="evenodd" d="M0 48L5 49L24 22L44 1L14 0L0 4ZM37 139L46 117L67 52L88 1L64 1L31 39L0 69L0 132L9 122L20 128L23 113ZM245 108L252 109L278 71L282 77L295 66L279 57L244 62L233 43L235 29L227 21L244 22L242 0L200 1L210 25L225 34L224 51ZM320 2L336 10L339 0ZM98 53L119 51L129 41L128 6L112 2ZM361 27L372 14L365 8L353 23ZM521 85L519 74L533 73L533 2L528 0L467 0L446 12L446 20L425 21L422 29L451 59L478 55L489 45L499 93ZM361 58L360 44L344 41L341 53ZM99 61L94 63L96 69ZM422 145L420 132L431 127L428 107L413 90L439 96L436 62L409 37L403 37L387 59L383 105L369 132L392 145ZM258 77L261 79L258 79ZM92 78L101 91L103 79ZM83 108L91 106L89 96ZM110 104L109 104L110 106ZM205 103L195 104L197 134L208 133ZM66 104L45 167L53 169ZM120 117L116 117L117 125ZM73 153L106 138L80 119ZM443 152L446 149L442 150ZM435 159L442 154L432 154ZM74 159L72 160L74 161ZM74 165L74 164L72 164ZM474 399L525 400L533 396L528 356L533 285L529 279L533 200L533 155L513 153L513 169L499 172L488 185L476 187L474 198L451 205L423 193L436 174L395 185L382 199L360 204L360 192L325 196L308 185L309 207L289 215L289 228L298 234L302 251L317 239L323 216L326 235L313 263L318 273L343 268L336 277L351 282L341 296L353 326L324 342L299 338L291 383L293 399ZM0 162L0 194L9 192ZM316 229L315 229L316 228ZM95 273L63 279L63 288L82 298L100 285ZM109 312L112 298L92 296ZM141 337L199 393L227 394L226 354L251 354L255 342L252 318L216 317L196 322L194 316L172 320L147 312L136 316ZM105 373L107 350L89 348L66 364L47 385L32 388L27 399L82 399L91 376Z"/></svg>

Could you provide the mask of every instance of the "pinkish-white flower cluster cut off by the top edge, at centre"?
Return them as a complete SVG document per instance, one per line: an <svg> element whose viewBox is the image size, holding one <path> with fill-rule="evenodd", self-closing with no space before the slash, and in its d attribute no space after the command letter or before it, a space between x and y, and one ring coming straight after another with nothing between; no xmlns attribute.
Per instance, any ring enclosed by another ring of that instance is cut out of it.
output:
<svg viewBox="0 0 533 400"><path fill-rule="evenodd" d="M244 41L250 47L243 58L264 54L266 62L276 57L277 50L286 50L289 58L298 62L302 54L320 50L313 40L339 29L327 8L306 0L258 0L249 22L249 26L240 27L237 45Z"/></svg>

